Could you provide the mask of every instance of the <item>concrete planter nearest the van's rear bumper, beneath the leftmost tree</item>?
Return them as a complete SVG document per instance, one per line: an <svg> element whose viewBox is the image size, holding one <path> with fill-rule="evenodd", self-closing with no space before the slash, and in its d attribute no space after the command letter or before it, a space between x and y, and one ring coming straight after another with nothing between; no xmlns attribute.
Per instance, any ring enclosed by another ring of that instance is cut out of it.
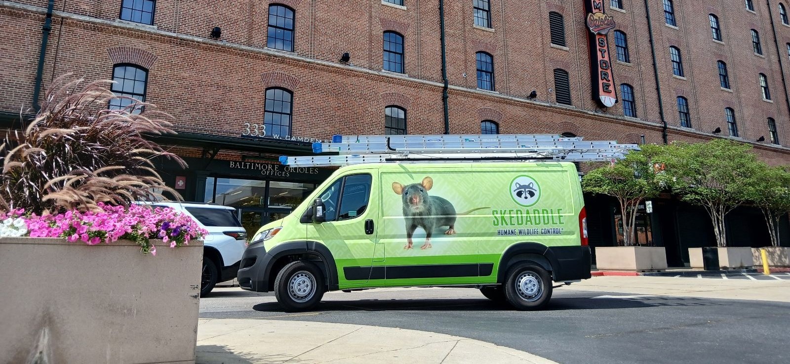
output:
<svg viewBox="0 0 790 364"><path fill-rule="evenodd" d="M596 267L601 271L660 272L667 269L663 246L596 246Z"/></svg>

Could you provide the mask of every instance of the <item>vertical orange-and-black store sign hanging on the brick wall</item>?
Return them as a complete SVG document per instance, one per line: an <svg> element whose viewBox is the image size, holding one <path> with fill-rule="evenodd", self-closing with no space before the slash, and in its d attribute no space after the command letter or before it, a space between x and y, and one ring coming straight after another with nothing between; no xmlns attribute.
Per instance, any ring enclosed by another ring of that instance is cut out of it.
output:
<svg viewBox="0 0 790 364"><path fill-rule="evenodd" d="M587 28L590 45L590 77L592 78L592 97L602 107L617 103L615 79L611 76L611 58L607 34L615 28L615 18L604 13L603 0L585 0L587 8Z"/></svg>

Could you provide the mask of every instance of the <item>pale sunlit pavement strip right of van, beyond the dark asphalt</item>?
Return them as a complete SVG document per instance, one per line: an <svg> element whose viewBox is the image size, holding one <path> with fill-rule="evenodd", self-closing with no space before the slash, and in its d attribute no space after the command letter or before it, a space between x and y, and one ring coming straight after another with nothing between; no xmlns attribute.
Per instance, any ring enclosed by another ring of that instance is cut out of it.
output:
<svg viewBox="0 0 790 364"><path fill-rule="evenodd" d="M687 277L593 276L562 289L634 295L790 302L790 280L698 280Z"/></svg>

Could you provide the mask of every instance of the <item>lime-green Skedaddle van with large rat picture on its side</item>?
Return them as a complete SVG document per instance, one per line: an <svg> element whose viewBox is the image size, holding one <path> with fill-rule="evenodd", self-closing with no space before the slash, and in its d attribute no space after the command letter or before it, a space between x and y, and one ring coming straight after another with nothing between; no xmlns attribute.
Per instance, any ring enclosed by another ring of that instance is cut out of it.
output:
<svg viewBox="0 0 790 364"><path fill-rule="evenodd" d="M371 163L340 167L253 238L248 291L288 311L325 291L474 287L539 310L552 281L590 277L584 200L573 163Z"/></svg>

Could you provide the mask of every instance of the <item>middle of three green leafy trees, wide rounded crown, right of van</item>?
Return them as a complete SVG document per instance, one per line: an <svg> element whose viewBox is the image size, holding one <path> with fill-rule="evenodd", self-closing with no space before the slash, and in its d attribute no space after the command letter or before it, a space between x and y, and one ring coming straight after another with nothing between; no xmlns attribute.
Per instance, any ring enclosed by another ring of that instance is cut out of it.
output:
<svg viewBox="0 0 790 364"><path fill-rule="evenodd" d="M665 171L660 182L683 201L705 208L713 222L717 246L727 246L724 216L754 195L757 156L751 145L715 139L707 143L675 142L658 156Z"/></svg>

